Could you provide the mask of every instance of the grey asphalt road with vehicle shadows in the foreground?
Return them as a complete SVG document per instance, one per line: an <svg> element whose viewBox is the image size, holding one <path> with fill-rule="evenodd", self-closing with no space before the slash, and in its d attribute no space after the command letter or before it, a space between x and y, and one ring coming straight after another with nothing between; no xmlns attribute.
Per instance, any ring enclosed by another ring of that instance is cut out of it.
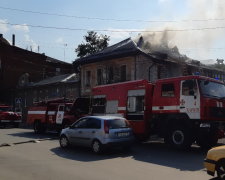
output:
<svg viewBox="0 0 225 180"><path fill-rule="evenodd" d="M87 148L59 147L57 135L29 129L0 129L0 179L12 180L207 180L206 152L176 151L161 142L136 144L130 152L95 155Z"/></svg>

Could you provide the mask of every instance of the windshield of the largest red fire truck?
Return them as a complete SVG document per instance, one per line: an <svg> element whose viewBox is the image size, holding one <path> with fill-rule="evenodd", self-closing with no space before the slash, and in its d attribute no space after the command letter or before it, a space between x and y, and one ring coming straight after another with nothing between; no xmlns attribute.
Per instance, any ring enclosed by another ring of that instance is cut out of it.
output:
<svg viewBox="0 0 225 180"><path fill-rule="evenodd" d="M205 97L225 98L225 85L208 80L199 80L201 93Z"/></svg>

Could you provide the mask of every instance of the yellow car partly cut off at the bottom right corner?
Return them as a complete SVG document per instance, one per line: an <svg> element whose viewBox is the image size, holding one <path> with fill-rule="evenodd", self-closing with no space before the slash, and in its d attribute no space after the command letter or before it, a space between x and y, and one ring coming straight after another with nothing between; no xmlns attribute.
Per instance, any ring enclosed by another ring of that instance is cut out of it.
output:
<svg viewBox="0 0 225 180"><path fill-rule="evenodd" d="M209 175L214 176L217 172L217 176L225 180L225 146L210 149L204 160L204 166Z"/></svg>

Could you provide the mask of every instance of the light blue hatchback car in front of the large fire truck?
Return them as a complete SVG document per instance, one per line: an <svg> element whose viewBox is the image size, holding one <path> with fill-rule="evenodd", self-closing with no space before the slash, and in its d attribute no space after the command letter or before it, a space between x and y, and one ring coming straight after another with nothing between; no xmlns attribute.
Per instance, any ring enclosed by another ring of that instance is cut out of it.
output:
<svg viewBox="0 0 225 180"><path fill-rule="evenodd" d="M101 153L107 147L120 146L128 149L134 140L129 122L114 116L86 116L62 130L59 143L62 148L69 145L91 147Z"/></svg>

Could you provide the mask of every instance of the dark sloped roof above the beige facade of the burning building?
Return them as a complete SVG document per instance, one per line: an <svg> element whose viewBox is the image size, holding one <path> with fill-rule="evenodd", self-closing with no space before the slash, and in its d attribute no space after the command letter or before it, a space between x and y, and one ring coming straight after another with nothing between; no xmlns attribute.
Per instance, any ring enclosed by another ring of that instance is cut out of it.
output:
<svg viewBox="0 0 225 180"><path fill-rule="evenodd" d="M88 64L88 63L94 63L94 62L103 61L107 59L126 57L129 55L137 55L137 54L144 54L149 56L147 53L141 50L131 38L128 38L117 44L109 46L105 48L104 50L97 52L93 55L76 59L73 62L73 65L76 66L76 65Z"/></svg>

